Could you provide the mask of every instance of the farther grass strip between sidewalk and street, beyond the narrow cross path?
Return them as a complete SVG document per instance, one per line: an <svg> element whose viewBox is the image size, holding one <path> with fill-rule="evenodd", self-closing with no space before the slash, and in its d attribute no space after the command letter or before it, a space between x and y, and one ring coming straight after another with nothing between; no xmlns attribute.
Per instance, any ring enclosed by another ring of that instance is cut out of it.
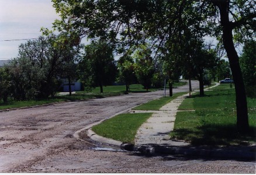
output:
<svg viewBox="0 0 256 175"><path fill-rule="evenodd" d="M171 100L178 96L184 95L188 92L175 93L171 97L161 97L160 99L148 101L147 103L141 104L140 106L134 107L133 110L160 110L162 106L169 103Z"/></svg>

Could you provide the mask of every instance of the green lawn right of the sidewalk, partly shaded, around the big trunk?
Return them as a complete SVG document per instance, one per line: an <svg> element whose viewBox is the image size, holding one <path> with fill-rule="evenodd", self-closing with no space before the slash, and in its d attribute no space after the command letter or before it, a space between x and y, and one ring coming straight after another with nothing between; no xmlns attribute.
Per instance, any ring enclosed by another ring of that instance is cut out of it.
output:
<svg viewBox="0 0 256 175"><path fill-rule="evenodd" d="M240 145L256 142L256 99L247 98L251 132L240 135L236 129L236 95L230 85L221 84L204 97L198 93L179 106L172 138L193 145Z"/></svg>

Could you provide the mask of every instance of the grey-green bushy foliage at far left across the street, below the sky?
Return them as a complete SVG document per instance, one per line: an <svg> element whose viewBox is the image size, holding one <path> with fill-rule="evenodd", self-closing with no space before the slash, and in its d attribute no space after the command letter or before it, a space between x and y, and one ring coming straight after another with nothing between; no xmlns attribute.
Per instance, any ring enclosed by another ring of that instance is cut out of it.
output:
<svg viewBox="0 0 256 175"><path fill-rule="evenodd" d="M9 95L16 100L54 96L61 85L60 77L71 76L77 54L72 44L63 43L64 38L48 31L47 37L20 44L19 56L6 65Z"/></svg>

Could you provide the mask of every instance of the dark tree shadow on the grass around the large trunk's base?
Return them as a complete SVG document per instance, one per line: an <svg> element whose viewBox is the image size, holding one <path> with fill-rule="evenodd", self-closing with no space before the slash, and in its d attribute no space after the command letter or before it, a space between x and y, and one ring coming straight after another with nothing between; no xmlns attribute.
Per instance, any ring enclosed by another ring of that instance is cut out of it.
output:
<svg viewBox="0 0 256 175"><path fill-rule="evenodd" d="M250 145L251 142L255 142L256 127L251 127L248 134L241 135L234 124L206 124L193 129L175 129L171 135L177 139L190 141L195 146Z"/></svg>

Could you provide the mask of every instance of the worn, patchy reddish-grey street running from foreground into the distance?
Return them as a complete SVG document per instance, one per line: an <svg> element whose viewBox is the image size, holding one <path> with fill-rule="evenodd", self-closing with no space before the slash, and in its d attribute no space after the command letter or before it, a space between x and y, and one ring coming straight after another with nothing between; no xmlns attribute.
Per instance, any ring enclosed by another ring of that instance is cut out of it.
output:
<svg viewBox="0 0 256 175"><path fill-rule="evenodd" d="M198 86L193 81L193 89ZM177 88L174 93L187 90ZM161 90L1 112L0 172L255 173L255 162L144 156L98 149L98 143L72 136L93 122L163 95Z"/></svg>

